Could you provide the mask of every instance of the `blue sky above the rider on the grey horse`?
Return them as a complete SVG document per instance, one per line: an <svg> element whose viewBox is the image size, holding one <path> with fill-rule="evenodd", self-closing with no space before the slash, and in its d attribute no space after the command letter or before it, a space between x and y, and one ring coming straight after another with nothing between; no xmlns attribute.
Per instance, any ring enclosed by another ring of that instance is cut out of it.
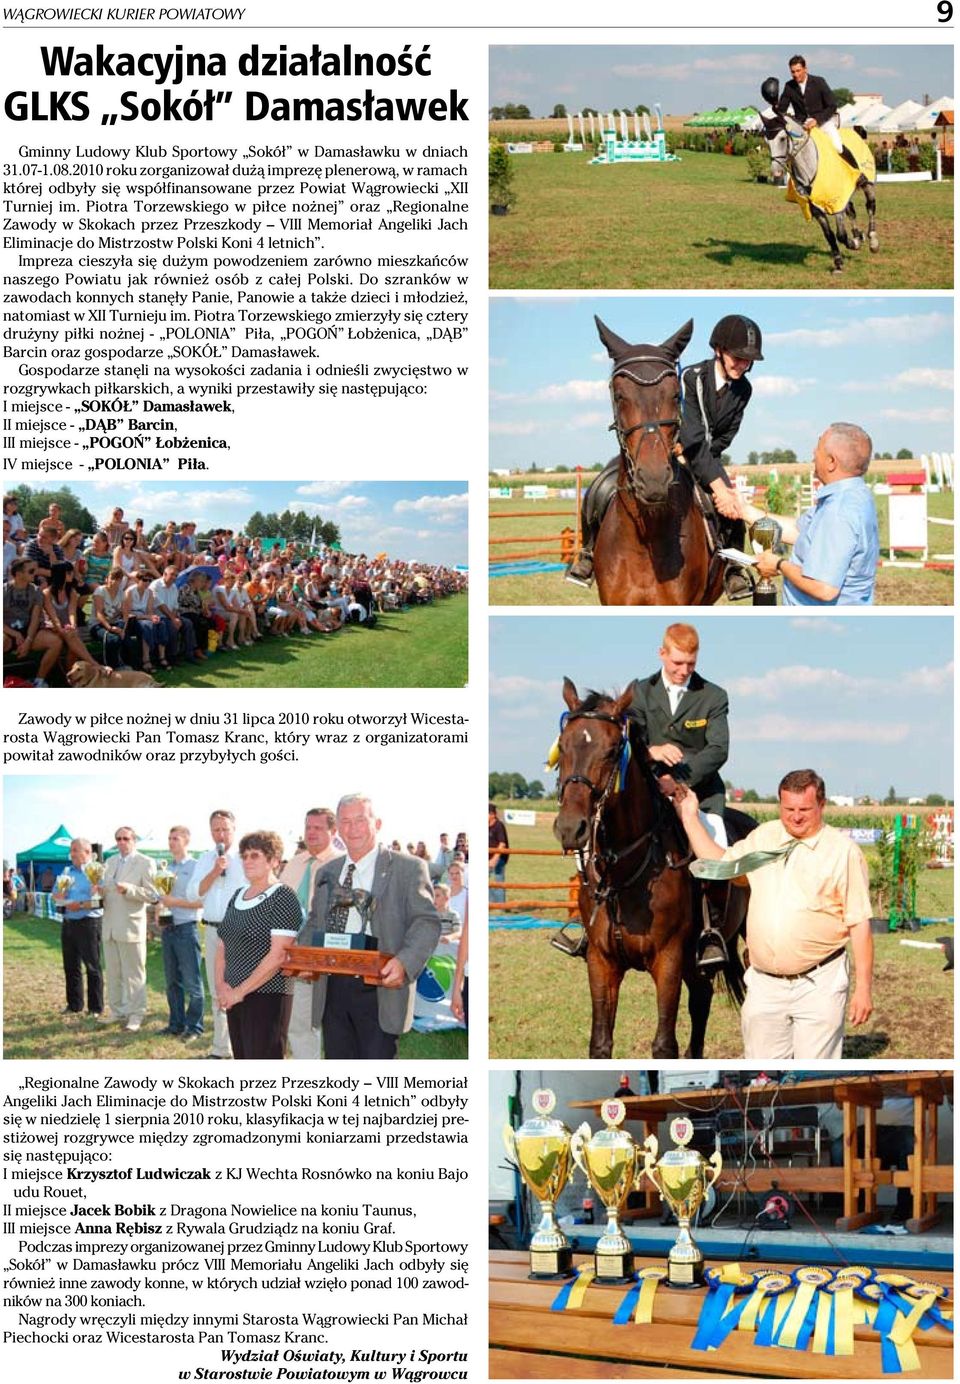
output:
<svg viewBox="0 0 960 1384"><path fill-rule="evenodd" d="M658 101L664 115L690 115L717 105L758 105L766 76L786 82L787 58L798 51L811 72L831 86L877 93L889 107L901 101L953 95L953 54L939 47L898 43L824 47L783 44L683 46L582 44L516 46L490 50L490 104L523 102L533 115L549 115L557 102L569 111Z"/></svg>

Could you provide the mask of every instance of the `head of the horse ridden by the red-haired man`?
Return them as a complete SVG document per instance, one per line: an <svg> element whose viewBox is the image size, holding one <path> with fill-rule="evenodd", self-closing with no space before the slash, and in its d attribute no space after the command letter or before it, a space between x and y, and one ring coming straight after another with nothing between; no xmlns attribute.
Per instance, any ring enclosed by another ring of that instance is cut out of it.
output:
<svg viewBox="0 0 960 1384"><path fill-rule="evenodd" d="M621 767L632 696L631 684L618 698L588 692L581 700L570 678L563 680L567 711L560 724L559 811L553 835L564 851L589 846L593 814L613 792Z"/></svg>

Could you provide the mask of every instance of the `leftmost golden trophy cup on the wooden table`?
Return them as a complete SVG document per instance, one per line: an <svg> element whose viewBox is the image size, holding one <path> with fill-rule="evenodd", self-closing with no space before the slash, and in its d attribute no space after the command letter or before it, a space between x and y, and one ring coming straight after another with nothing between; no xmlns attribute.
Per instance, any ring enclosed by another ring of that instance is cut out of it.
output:
<svg viewBox="0 0 960 1384"><path fill-rule="evenodd" d="M570 1131L552 1120L556 1104L552 1091L534 1091L534 1114L519 1129L504 1127L506 1157L539 1201L539 1225L530 1240L531 1279L569 1279L573 1246L556 1223L556 1199L570 1178Z"/></svg>

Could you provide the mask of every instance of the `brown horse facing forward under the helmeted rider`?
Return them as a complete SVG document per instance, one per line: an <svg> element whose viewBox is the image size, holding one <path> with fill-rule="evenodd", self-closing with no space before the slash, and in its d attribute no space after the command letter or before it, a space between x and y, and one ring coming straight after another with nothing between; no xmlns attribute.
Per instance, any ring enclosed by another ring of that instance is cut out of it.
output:
<svg viewBox="0 0 960 1384"><path fill-rule="evenodd" d="M602 605L712 605L723 563L710 543L689 469L676 455L679 358L693 322L660 346L621 340L596 318L613 360L611 430L620 443L617 490L593 547Z"/></svg>

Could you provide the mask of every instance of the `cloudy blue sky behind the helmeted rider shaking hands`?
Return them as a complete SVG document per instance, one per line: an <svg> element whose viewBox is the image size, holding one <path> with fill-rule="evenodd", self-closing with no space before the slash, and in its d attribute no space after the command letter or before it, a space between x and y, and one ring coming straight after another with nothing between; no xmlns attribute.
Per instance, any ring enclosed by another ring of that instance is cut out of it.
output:
<svg viewBox="0 0 960 1384"><path fill-rule="evenodd" d="M714 322L747 313L764 334L754 396L730 447L793 447L808 459L830 422L860 424L877 451L953 448L953 307L945 298L573 296L495 298L490 304L490 465L607 461L616 447L610 361L596 313L618 336L660 342L689 317L685 364L711 354Z"/></svg>

